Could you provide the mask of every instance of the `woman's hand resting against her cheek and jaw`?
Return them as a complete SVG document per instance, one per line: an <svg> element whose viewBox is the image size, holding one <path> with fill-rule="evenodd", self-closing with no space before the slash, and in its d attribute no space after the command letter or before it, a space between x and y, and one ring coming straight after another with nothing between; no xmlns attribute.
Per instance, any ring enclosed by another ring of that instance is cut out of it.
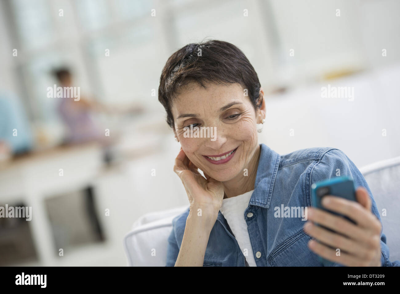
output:
<svg viewBox="0 0 400 294"><path fill-rule="evenodd" d="M175 159L174 172L181 179L188 199L190 202L190 210L197 213L197 209L201 208L210 210L211 215L218 215L218 211L222 206L224 199L224 186L220 181L208 176L204 173L204 177L198 172L198 168L186 156L182 147Z"/></svg>

